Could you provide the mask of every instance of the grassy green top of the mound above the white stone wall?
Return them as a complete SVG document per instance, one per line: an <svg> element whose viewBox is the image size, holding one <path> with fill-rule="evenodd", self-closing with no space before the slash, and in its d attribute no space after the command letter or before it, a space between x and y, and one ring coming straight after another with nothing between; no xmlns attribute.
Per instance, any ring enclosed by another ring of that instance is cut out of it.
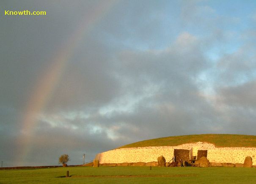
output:
<svg viewBox="0 0 256 184"><path fill-rule="evenodd" d="M256 135L202 134L149 139L127 144L117 149L147 146L178 146L184 143L194 143L199 141L213 143L217 147L256 147Z"/></svg>

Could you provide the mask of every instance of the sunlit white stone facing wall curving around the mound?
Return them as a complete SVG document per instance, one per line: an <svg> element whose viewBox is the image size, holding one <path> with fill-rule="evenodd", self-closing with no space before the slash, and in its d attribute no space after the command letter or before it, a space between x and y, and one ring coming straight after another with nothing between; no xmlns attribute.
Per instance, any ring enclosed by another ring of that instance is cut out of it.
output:
<svg viewBox="0 0 256 184"><path fill-rule="evenodd" d="M114 149L96 154L95 159L103 163L124 163L124 162L157 162L157 157L163 155L166 162L169 162L174 154L174 149L190 150L193 156L197 156L198 150L207 150L207 159L215 163L243 163L245 157L253 159L256 165L256 148L216 148L211 143L187 143L179 146L152 146L138 148Z"/></svg>

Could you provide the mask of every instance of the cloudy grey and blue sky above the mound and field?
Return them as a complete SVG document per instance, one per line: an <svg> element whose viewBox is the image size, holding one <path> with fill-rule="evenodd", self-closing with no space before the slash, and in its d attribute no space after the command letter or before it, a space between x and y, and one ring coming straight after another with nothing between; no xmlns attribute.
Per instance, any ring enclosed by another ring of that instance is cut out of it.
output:
<svg viewBox="0 0 256 184"><path fill-rule="evenodd" d="M255 0L1 0L0 23L3 167L256 135Z"/></svg>

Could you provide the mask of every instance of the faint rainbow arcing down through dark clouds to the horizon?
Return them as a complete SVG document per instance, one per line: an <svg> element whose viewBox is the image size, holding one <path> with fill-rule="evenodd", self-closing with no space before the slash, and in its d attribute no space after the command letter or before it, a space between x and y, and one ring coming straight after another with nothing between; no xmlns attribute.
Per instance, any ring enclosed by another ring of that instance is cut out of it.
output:
<svg viewBox="0 0 256 184"><path fill-rule="evenodd" d="M58 53L51 60L52 62L49 69L36 83L22 117L21 134L17 140L17 152L19 153L16 158L17 165L24 165L25 162L28 161L33 136L35 136L33 132L37 124L37 116L49 102L75 49L80 45L81 40L83 40L82 38L88 35L99 20L102 19L116 3L117 0L105 0L97 5L96 8L92 9L91 13L82 19L83 21L67 39L66 43L58 49Z"/></svg>

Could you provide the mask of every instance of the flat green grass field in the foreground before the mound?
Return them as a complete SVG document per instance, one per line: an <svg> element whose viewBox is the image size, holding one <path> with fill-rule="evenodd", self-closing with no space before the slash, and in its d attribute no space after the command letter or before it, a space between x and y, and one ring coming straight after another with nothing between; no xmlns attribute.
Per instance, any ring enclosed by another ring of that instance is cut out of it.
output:
<svg viewBox="0 0 256 184"><path fill-rule="evenodd" d="M69 178L66 171L69 170ZM256 168L70 167L0 170L1 184L252 184Z"/></svg>

